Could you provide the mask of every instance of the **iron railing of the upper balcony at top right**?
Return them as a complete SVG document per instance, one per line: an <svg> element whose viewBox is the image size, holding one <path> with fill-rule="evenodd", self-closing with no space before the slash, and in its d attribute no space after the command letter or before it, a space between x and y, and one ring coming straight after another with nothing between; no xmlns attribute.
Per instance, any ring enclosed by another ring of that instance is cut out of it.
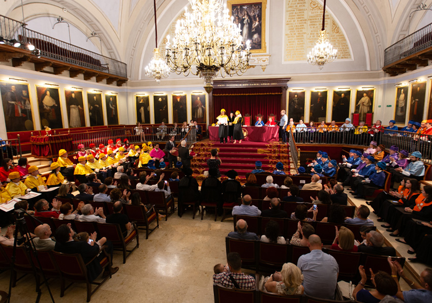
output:
<svg viewBox="0 0 432 303"><path fill-rule="evenodd" d="M384 66L432 47L432 23L397 41L384 51Z"/></svg>

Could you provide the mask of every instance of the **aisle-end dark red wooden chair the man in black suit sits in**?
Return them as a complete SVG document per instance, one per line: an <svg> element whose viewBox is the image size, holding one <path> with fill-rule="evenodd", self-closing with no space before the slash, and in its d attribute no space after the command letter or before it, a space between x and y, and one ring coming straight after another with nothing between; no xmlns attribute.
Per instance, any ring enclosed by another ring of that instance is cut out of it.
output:
<svg viewBox="0 0 432 303"><path fill-rule="evenodd" d="M58 270L60 270L61 276L61 288L60 288L60 297L65 295L65 291L73 284L73 283L85 283L87 285L87 302L90 301L91 295L94 294L99 287L108 278L111 278L111 274L106 276L102 282L90 282L87 276L87 265L90 264L95 258L91 259L87 264L84 263L80 254L63 254L52 251L53 259L57 264ZM110 264L111 260L109 256L105 256L99 263L102 268L105 268ZM65 280L69 280L72 283L65 287ZM97 285L96 288L91 291L91 284Z"/></svg>

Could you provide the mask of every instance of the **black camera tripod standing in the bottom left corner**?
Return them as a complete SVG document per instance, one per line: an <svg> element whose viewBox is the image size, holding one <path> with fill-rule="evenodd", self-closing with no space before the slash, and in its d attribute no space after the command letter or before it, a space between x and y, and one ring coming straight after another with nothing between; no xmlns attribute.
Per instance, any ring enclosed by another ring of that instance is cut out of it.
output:
<svg viewBox="0 0 432 303"><path fill-rule="evenodd" d="M25 247L27 254L29 256L28 259L29 259L30 264L32 265L33 273L34 273L35 279L36 279L36 292L38 293L38 296L36 298L36 303L39 302L39 300L41 299L41 295L42 295L41 287L40 287L39 282L38 282L38 271L37 271L37 268L35 266L35 263L33 262L33 258L31 257L32 254L35 256L35 259L38 262L39 268L42 268L42 266L41 266L41 263L40 263L39 258L38 258L38 251L36 250L36 246L33 243L32 236L30 235L30 232L28 231L27 224L26 224L25 219L24 219L25 214L27 214L27 213L22 208L16 209L13 213L13 215L15 216L15 231L14 231L14 247L13 247L13 253L12 253L12 258L11 258L12 267L11 267L11 277L10 277L10 281L9 281L8 303L10 303L10 301L11 301L12 279L13 279L13 275L14 275L14 266L15 266L15 260L16 260L16 247L17 247L18 231L20 232L21 236L24 238L24 247ZM27 216L29 216L29 215L27 214ZM33 218L33 219L38 221L39 223L43 224L38 219L36 219L36 218ZM48 281L46 280L44 271L41 269L40 272L41 272L41 275L43 278L43 284L45 284L46 287L48 288L49 295L51 296L51 301L52 301L52 303L55 303L54 298L52 297L51 289L49 288L49 285L48 285Z"/></svg>

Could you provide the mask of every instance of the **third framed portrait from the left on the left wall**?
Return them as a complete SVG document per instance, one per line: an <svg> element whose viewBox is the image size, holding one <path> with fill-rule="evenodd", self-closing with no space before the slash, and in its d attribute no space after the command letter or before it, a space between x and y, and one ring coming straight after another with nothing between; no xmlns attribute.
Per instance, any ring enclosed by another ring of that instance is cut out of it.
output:
<svg viewBox="0 0 432 303"><path fill-rule="evenodd" d="M86 127L82 91L65 88L65 97L69 127Z"/></svg>

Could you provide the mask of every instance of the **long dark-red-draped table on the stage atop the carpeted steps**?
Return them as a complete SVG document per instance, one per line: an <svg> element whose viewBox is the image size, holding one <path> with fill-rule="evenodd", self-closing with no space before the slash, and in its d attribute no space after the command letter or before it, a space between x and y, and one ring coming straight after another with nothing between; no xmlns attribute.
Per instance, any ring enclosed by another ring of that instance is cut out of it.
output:
<svg viewBox="0 0 432 303"><path fill-rule="evenodd" d="M279 127L267 127L267 126L248 126L242 127L244 141L255 141L255 142L272 142L279 141ZM208 137L210 140L219 141L219 127L210 126L208 127Z"/></svg>

